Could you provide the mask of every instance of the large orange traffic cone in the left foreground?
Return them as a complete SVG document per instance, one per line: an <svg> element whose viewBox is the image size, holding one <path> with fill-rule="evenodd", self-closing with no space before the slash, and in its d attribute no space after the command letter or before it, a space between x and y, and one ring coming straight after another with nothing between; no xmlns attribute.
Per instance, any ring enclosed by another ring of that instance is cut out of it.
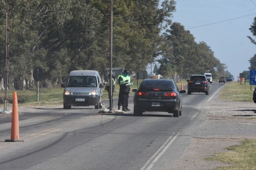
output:
<svg viewBox="0 0 256 170"><path fill-rule="evenodd" d="M12 129L11 129L11 139L5 139L6 142L24 142L24 140L19 139L19 111L18 111L18 100L17 93L13 93L12 101Z"/></svg>

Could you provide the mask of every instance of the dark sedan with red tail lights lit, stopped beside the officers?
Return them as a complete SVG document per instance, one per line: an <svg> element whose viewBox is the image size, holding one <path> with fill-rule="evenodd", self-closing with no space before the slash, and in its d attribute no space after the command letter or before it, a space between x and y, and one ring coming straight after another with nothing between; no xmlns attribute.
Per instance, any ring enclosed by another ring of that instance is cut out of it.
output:
<svg viewBox="0 0 256 170"><path fill-rule="evenodd" d="M140 116L143 112L168 112L173 117L182 115L182 96L185 90L178 90L173 80L145 79L139 89L132 89L134 116Z"/></svg>

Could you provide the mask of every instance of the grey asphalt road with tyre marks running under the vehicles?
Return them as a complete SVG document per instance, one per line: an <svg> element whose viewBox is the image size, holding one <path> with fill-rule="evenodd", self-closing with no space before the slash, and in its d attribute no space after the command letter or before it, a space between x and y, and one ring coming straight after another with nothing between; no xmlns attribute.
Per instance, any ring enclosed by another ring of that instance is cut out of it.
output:
<svg viewBox="0 0 256 170"><path fill-rule="evenodd" d="M191 139L204 136L202 129L209 126L204 113L194 108L199 103L211 102L224 86L216 82L210 85L209 95L182 94L183 111L178 118L163 112L145 112L134 117L132 95L131 111L125 114L99 114L91 106L22 113L19 134L24 142L5 142L10 138L11 118L0 116L0 169L189 169L191 165L180 164L181 157ZM104 103L108 106L108 100ZM207 133L219 133L216 130Z"/></svg>

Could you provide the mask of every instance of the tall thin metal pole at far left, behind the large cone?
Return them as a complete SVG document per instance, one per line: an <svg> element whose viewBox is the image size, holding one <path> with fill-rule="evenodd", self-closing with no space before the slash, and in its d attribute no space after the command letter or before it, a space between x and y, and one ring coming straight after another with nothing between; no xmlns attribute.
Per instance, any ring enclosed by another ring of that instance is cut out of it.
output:
<svg viewBox="0 0 256 170"><path fill-rule="evenodd" d="M8 100L7 88L8 88L8 60L9 60L9 7L8 0L6 0L6 66L5 66L5 99L4 99L4 111L6 111L6 104Z"/></svg>

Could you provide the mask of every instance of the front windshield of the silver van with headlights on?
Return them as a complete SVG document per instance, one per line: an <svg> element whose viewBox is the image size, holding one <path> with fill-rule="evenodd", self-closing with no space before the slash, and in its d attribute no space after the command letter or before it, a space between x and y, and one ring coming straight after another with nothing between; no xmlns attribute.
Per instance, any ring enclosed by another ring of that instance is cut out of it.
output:
<svg viewBox="0 0 256 170"><path fill-rule="evenodd" d="M70 76L67 87L98 87L95 76Z"/></svg>

